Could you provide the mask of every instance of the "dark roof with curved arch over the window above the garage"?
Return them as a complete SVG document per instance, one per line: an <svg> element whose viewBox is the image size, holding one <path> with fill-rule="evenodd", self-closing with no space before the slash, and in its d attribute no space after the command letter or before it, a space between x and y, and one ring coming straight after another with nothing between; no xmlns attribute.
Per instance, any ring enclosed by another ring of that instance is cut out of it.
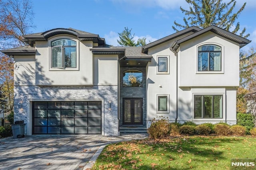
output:
<svg viewBox="0 0 256 170"><path fill-rule="evenodd" d="M33 46L35 42L47 41L48 38L58 34L69 34L76 36L80 41L92 41L93 43L98 43L99 45L106 45L105 39L100 38L98 34L92 34L90 32L84 32L74 28L55 28L46 32L23 35L23 38L24 42L27 42Z"/></svg>

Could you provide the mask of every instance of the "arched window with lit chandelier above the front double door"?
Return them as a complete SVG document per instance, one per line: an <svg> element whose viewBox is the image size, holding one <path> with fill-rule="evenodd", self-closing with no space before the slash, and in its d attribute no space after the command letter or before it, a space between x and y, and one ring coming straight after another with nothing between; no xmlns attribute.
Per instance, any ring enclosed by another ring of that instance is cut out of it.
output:
<svg viewBox="0 0 256 170"><path fill-rule="evenodd" d="M123 72L123 87L142 87L142 72L138 70L127 70Z"/></svg>

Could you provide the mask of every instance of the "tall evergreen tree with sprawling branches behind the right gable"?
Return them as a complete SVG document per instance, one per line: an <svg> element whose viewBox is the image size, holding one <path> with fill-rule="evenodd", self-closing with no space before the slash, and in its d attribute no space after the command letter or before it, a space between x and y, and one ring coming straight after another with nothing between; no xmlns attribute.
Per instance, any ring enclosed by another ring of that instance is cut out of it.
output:
<svg viewBox="0 0 256 170"><path fill-rule="evenodd" d="M179 30L177 28L185 29L190 26L207 28L208 26L216 25L224 30L237 34L240 29L239 22L236 23L234 30L231 31L230 29L234 26L236 19L238 19L238 16L244 10L246 2L238 12L233 13L232 11L236 6L236 0L230 0L228 3L223 3L222 1L223 0L186 0L186 2L190 4L189 10L180 7L180 10L186 16L183 18L184 25L174 21L175 27L172 26L172 28L178 32ZM246 28L240 32L240 36L247 38L250 34L244 36L245 31Z"/></svg>

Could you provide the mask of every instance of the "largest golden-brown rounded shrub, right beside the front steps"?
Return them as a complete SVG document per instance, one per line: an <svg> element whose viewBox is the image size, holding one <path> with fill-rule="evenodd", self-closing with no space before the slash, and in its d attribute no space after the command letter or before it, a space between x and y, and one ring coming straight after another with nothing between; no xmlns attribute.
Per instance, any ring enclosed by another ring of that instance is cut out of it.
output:
<svg viewBox="0 0 256 170"><path fill-rule="evenodd" d="M160 117L160 119L152 119L151 125L148 128L148 134L150 138L162 138L169 133L169 121L168 118Z"/></svg>

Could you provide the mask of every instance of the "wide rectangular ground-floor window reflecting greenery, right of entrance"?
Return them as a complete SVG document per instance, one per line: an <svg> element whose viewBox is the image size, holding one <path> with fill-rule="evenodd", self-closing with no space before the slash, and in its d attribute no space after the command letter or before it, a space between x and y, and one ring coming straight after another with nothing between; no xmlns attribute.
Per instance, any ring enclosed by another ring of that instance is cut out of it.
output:
<svg viewBox="0 0 256 170"><path fill-rule="evenodd" d="M194 95L194 118L222 118L222 95Z"/></svg>

